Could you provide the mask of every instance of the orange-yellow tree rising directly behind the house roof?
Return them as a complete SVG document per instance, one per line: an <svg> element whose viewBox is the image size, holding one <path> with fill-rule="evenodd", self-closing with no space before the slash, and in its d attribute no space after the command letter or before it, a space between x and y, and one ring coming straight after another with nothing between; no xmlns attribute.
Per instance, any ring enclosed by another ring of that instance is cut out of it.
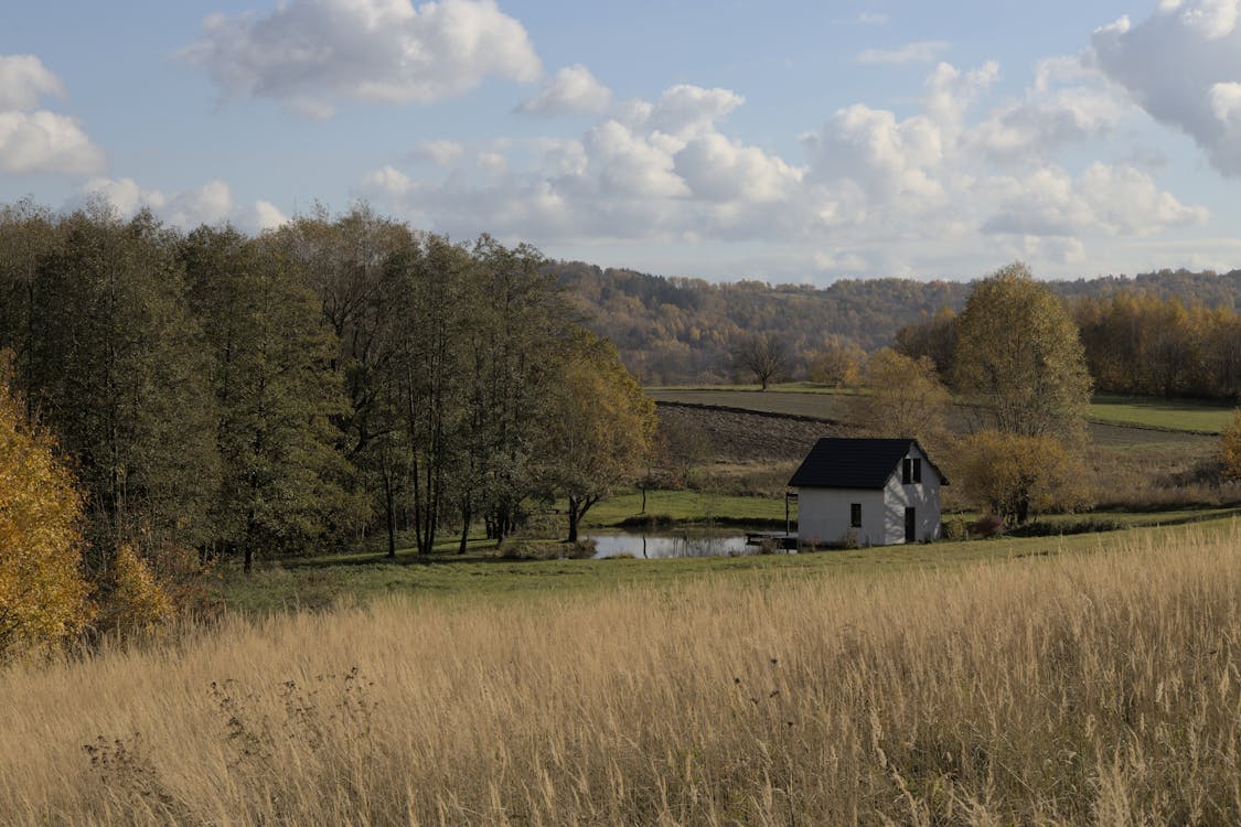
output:
<svg viewBox="0 0 1241 827"><path fill-rule="evenodd" d="M885 347L870 357L862 393L849 399L848 417L866 436L913 438L933 448L947 433L949 399L934 362Z"/></svg>

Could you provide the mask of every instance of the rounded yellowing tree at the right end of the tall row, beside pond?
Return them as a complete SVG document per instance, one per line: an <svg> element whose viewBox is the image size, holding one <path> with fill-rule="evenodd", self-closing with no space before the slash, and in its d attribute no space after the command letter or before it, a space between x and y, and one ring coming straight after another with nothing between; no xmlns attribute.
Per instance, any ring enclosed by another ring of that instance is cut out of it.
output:
<svg viewBox="0 0 1241 827"><path fill-rule="evenodd" d="M549 399L544 480L568 500L568 542L594 503L644 467L655 433L655 403L620 363L611 342L577 331Z"/></svg>

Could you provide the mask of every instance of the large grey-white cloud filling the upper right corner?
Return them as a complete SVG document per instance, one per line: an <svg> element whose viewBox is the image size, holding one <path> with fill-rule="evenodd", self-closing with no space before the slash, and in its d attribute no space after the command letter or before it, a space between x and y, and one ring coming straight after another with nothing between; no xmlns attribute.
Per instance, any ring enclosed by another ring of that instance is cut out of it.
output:
<svg viewBox="0 0 1241 827"><path fill-rule="evenodd" d="M1162 0L1092 37L1098 67L1155 120L1183 130L1225 175L1241 175L1241 26L1237 0Z"/></svg>

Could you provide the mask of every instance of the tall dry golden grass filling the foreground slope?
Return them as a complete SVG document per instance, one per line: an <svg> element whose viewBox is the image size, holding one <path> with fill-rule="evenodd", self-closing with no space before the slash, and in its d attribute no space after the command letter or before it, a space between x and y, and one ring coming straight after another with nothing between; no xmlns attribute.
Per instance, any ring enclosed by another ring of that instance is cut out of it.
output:
<svg viewBox="0 0 1241 827"><path fill-rule="evenodd" d="M0 821L1241 823L1241 527L385 603L0 673Z"/></svg>

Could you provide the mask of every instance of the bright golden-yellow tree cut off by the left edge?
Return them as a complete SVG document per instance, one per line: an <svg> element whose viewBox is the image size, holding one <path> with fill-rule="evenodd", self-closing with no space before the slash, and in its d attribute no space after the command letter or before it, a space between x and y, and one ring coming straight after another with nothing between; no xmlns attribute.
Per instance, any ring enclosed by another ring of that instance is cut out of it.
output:
<svg viewBox="0 0 1241 827"><path fill-rule="evenodd" d="M82 493L51 435L25 424L0 371L0 661L51 647L91 619Z"/></svg>

